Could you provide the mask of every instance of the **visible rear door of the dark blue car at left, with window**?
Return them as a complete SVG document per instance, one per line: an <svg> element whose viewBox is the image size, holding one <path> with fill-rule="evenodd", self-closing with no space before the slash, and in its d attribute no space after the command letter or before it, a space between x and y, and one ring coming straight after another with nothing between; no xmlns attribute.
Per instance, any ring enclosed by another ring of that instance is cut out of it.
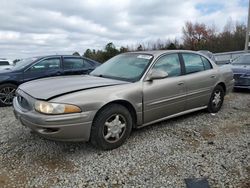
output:
<svg viewBox="0 0 250 188"><path fill-rule="evenodd" d="M88 74L92 66L81 57L63 57L64 75Z"/></svg>

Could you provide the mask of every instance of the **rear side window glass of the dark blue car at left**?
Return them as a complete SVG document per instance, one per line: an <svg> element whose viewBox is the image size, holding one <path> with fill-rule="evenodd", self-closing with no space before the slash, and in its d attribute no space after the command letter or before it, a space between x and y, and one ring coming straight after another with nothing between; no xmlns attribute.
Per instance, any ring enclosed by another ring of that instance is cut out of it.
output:
<svg viewBox="0 0 250 188"><path fill-rule="evenodd" d="M90 66L91 65L82 58L71 58L71 57L63 58L63 68L65 70L89 68Z"/></svg>

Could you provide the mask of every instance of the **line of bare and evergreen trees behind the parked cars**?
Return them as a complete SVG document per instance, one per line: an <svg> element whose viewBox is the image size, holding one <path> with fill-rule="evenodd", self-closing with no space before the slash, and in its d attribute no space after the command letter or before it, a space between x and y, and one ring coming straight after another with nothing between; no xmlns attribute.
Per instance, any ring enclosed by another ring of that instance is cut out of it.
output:
<svg viewBox="0 0 250 188"><path fill-rule="evenodd" d="M182 39L161 40L144 42L132 46L116 46L110 42L104 49L87 49L83 56L90 59L105 62L111 57L129 51L144 50L209 50L213 53L243 50L245 44L246 25L228 21L221 32L215 26L207 26L204 23L186 22L182 28ZM74 52L73 55L80 55Z"/></svg>

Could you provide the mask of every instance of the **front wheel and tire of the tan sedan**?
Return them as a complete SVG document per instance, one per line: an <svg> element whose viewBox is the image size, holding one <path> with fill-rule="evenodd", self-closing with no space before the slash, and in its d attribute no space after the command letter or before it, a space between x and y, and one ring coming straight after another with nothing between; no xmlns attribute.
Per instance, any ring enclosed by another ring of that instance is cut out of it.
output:
<svg viewBox="0 0 250 188"><path fill-rule="evenodd" d="M102 150L118 148L129 137L132 122L126 107L110 104L97 113L91 128L90 142Z"/></svg>

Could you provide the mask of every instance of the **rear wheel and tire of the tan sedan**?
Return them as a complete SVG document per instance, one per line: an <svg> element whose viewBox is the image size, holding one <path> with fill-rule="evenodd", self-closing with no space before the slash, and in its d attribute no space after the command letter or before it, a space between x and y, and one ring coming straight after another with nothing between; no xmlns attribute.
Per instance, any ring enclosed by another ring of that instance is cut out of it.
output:
<svg viewBox="0 0 250 188"><path fill-rule="evenodd" d="M224 96L225 96L224 89L220 85L217 85L214 88L211 98L209 100L207 108L208 112L217 113L222 107Z"/></svg>

